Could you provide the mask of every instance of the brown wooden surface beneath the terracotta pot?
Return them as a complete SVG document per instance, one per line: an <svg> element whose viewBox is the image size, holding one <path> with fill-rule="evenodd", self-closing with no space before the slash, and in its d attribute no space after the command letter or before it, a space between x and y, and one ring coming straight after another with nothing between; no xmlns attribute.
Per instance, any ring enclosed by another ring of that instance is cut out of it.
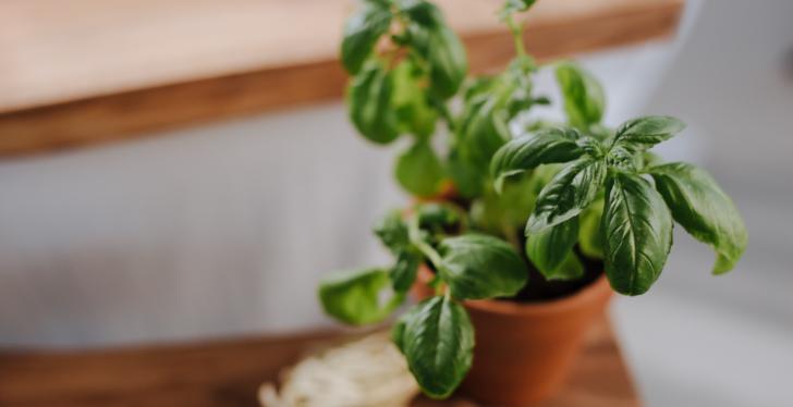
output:
<svg viewBox="0 0 793 407"><path fill-rule="evenodd" d="M256 406L272 381L312 344L334 333L228 340L91 351L0 353L0 406ZM476 406L417 399L416 406ZM606 320L589 333L566 387L550 406L637 406Z"/></svg>

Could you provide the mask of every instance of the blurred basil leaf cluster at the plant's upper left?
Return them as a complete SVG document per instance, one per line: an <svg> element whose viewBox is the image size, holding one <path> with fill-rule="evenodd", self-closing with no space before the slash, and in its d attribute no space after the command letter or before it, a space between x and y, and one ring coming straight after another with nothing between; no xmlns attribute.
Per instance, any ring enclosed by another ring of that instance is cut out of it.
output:
<svg viewBox="0 0 793 407"><path fill-rule="evenodd" d="M381 145L410 135L396 180L416 196L436 194L446 169L430 138L467 74L460 38L430 2L366 0L346 22L341 60L355 128Z"/></svg>

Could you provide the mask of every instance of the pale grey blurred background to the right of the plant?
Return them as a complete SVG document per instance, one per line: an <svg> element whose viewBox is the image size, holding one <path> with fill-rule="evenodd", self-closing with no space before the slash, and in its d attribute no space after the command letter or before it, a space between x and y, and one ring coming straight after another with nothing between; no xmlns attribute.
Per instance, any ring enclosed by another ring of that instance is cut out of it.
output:
<svg viewBox="0 0 793 407"><path fill-rule="evenodd" d="M620 298L615 318L647 405L790 406L793 1L701 5L644 110L688 122L667 156L715 174L744 214L748 248L712 276L710 249L678 227L652 292Z"/></svg>

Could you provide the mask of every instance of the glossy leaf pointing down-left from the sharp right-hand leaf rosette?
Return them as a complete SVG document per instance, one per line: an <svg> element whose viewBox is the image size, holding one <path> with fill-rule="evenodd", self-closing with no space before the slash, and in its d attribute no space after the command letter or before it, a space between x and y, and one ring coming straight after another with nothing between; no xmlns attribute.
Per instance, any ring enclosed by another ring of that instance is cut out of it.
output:
<svg viewBox="0 0 793 407"><path fill-rule="evenodd" d="M560 171L537 197L526 235L542 232L581 213L603 186L606 164L584 157Z"/></svg>

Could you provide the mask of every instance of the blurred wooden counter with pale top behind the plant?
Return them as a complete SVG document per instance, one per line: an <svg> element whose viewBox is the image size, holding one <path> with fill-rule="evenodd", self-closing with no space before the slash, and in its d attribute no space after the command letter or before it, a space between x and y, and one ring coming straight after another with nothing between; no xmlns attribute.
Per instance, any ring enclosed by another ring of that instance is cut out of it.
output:
<svg viewBox="0 0 793 407"><path fill-rule="evenodd" d="M542 0L527 46L549 59L673 33L684 0ZM439 0L481 72L512 42L500 0ZM350 0L0 2L0 157L338 98Z"/></svg>

